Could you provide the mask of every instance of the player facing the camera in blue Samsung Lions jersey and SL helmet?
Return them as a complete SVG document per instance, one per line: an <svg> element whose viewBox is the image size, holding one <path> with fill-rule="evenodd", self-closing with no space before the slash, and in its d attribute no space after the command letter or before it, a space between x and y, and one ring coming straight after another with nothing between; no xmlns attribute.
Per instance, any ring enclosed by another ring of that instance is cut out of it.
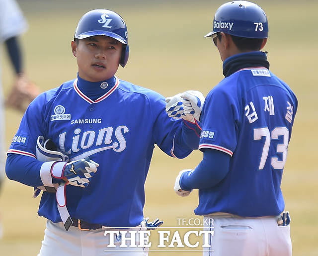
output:
<svg viewBox="0 0 318 256"><path fill-rule="evenodd" d="M198 148L200 130L168 117L159 93L114 76L129 55L117 13L85 13L72 52L77 78L31 102L7 152L6 174L35 187L35 195L44 190L40 256L147 255L142 247L108 248L104 231L145 229L144 183L155 144L184 158ZM122 239L116 235L115 244Z"/></svg>

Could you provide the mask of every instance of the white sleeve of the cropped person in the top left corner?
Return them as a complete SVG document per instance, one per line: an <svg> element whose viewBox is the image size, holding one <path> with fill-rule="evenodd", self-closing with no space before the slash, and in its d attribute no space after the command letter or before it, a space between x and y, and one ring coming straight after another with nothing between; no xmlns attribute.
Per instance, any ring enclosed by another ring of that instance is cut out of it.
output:
<svg viewBox="0 0 318 256"><path fill-rule="evenodd" d="M27 27L27 22L15 0L0 0L0 42L21 35Z"/></svg>

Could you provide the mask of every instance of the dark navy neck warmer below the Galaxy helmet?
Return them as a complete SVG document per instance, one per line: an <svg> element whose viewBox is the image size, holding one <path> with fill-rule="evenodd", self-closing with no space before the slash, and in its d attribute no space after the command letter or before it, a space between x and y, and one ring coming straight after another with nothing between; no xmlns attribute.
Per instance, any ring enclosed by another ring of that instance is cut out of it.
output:
<svg viewBox="0 0 318 256"><path fill-rule="evenodd" d="M265 52L239 53L227 58L223 63L223 75L229 77L241 69L252 67L269 69L269 62Z"/></svg>

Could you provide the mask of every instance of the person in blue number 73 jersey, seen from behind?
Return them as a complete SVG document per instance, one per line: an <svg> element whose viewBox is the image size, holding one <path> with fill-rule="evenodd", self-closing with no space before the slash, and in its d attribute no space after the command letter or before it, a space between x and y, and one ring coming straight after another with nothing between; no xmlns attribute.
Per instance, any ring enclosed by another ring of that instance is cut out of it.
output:
<svg viewBox="0 0 318 256"><path fill-rule="evenodd" d="M290 256L290 217L280 184L298 101L260 51L268 38L266 14L252 2L227 2L205 37L219 50L225 78L201 112L203 160L180 171L175 192L199 189L194 212L214 231L203 255Z"/></svg>

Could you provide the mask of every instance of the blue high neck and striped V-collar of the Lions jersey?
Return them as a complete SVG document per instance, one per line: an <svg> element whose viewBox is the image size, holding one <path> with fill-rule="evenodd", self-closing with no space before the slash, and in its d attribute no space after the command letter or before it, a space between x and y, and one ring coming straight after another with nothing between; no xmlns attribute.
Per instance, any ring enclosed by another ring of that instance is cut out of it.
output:
<svg viewBox="0 0 318 256"><path fill-rule="evenodd" d="M105 81L89 82L79 77L74 81L74 89L88 103L98 103L107 98L119 85L117 77Z"/></svg>

